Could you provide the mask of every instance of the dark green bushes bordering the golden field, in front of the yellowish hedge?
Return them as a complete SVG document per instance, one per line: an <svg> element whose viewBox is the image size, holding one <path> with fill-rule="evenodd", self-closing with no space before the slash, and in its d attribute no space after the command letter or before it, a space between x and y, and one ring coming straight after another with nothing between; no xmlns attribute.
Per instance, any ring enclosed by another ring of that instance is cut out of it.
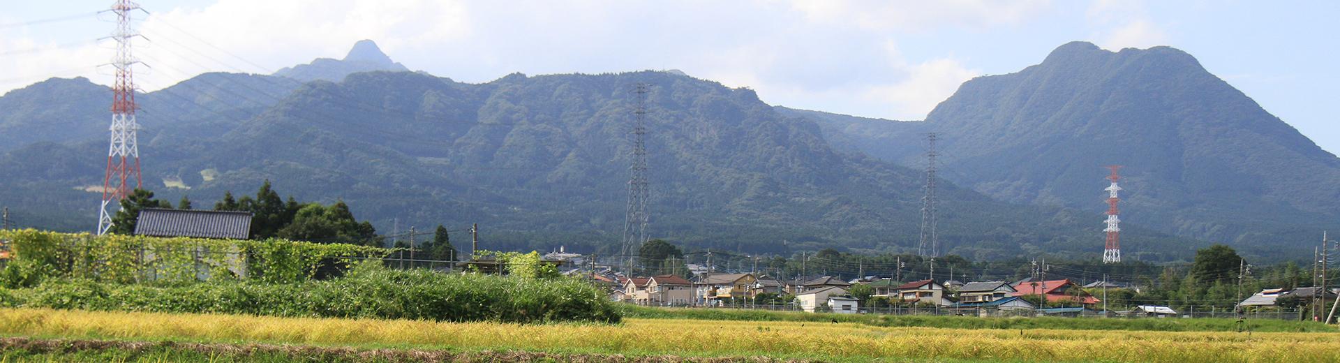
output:
<svg viewBox="0 0 1340 363"><path fill-rule="evenodd" d="M4 307L91 311L505 323L620 320L599 289L575 279L390 271L377 261L322 281L143 285L47 280L36 288L0 289L0 299Z"/></svg>

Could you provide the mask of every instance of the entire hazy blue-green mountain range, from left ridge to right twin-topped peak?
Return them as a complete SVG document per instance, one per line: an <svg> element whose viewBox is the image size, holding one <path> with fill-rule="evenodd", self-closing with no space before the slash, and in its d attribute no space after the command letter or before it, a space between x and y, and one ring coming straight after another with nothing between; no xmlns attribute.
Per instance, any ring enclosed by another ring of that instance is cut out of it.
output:
<svg viewBox="0 0 1340 363"><path fill-rule="evenodd" d="M1205 244L1193 238L1278 257L1302 241L1276 237L1336 214L1324 202L1335 188L1312 185L1329 174L1294 175L1335 173L1335 157L1189 55L1087 43L970 80L926 122L895 123L773 107L678 72L457 83L359 42L343 60L205 74L141 95L145 185L208 205L269 178L303 200L343 198L383 230L393 218L480 222L488 248L607 248L623 224L634 83L651 84L653 234L695 246L913 250L917 138L933 129L942 175L972 186L941 184L943 249L973 259L1096 256L1108 163L1128 165L1123 245L1135 259L1186 257ZM96 196L83 189L100 184L109 95L51 79L0 96L19 110L0 118L11 185L0 205L29 224L92 224ZM1226 192L1242 198L1214 198Z"/></svg>

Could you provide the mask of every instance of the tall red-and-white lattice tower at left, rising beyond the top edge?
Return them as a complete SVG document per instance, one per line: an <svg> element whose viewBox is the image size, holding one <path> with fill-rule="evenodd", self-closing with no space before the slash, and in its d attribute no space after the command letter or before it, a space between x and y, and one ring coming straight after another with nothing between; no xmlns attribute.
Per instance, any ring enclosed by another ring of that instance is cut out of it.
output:
<svg viewBox="0 0 1340 363"><path fill-rule="evenodd" d="M117 13L117 31L111 33L111 39L117 42L117 55L111 59L111 66L117 68L117 79L111 86L111 146L107 149L107 173L102 181L98 234L111 229L111 216L115 210L110 208L121 208L121 200L141 186L137 138L139 123L135 122L135 82L130 68L139 63L130 52L130 40L139 36L130 27L130 12L135 9L139 9L139 4L130 0L118 0L111 5L111 12Z"/></svg>

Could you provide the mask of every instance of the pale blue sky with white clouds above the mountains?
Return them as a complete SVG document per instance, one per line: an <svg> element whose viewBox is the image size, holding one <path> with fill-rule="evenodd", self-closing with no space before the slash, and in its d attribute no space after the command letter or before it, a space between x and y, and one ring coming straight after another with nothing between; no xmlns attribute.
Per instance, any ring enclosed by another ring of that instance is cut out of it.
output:
<svg viewBox="0 0 1340 363"><path fill-rule="evenodd" d="M52 76L111 80L109 0L0 12L0 92ZM1340 151L1340 1L445 1L142 0L137 86L209 71L269 74L342 58L360 39L458 82L681 70L796 108L923 119L974 76L1087 40L1171 46ZM100 39L100 40L99 40Z"/></svg>

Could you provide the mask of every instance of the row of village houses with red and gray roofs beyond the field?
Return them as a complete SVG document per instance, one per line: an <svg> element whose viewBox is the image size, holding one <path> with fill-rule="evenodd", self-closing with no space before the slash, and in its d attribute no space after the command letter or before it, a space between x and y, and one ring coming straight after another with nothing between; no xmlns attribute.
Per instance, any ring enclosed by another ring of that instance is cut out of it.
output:
<svg viewBox="0 0 1340 363"><path fill-rule="evenodd" d="M1175 311L1166 305L1108 307L1108 289L1138 289L1108 281L1080 285L1069 279L1018 281L896 281L867 276L780 280L754 273L716 273L691 280L675 275L623 277L594 273L610 300L653 307L745 308L832 313L1064 316L1064 317L1264 317L1300 319L1282 301L1335 300L1340 288L1268 288L1237 304L1238 311ZM1044 301L1045 304L1038 304ZM1333 313L1333 312L1331 312Z"/></svg>

